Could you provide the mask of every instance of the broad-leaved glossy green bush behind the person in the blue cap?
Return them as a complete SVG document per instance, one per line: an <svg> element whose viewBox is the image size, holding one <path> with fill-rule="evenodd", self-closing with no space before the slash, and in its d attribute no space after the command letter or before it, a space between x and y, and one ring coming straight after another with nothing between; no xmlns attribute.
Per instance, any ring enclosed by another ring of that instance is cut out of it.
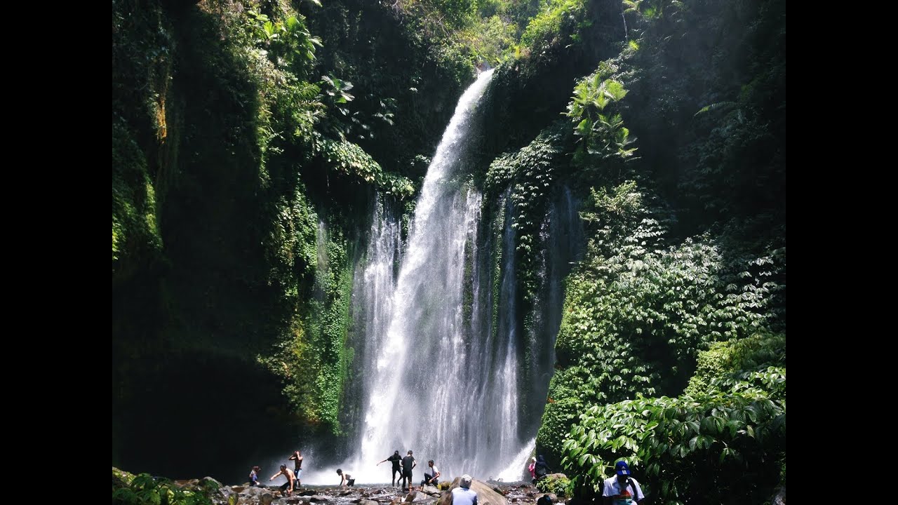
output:
<svg viewBox="0 0 898 505"><path fill-rule="evenodd" d="M760 334L720 342L703 353L716 363L703 390L589 408L564 447L579 491L601 493L606 470L626 458L657 501L769 499L785 485L785 344Z"/></svg>

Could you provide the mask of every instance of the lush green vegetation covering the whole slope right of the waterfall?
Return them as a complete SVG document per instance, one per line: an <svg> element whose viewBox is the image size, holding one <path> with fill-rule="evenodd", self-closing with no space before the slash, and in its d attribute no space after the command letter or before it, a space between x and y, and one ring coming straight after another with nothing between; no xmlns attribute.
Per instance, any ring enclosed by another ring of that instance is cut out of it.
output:
<svg viewBox="0 0 898 505"><path fill-rule="evenodd" d="M550 195L585 188L537 436L582 498L623 457L659 502L756 503L785 485L783 6L551 2L494 76L489 144L506 152L485 206L506 190L523 203L522 300L540 296Z"/></svg>

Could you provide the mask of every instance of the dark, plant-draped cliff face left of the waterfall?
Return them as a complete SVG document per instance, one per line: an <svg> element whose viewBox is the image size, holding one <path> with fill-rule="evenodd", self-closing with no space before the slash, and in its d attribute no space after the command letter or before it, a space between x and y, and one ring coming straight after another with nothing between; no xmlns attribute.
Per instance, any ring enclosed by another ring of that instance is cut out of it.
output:
<svg viewBox="0 0 898 505"><path fill-rule="evenodd" d="M369 4L113 2L114 465L228 475L252 454L222 441L339 435L358 230L464 84Z"/></svg>

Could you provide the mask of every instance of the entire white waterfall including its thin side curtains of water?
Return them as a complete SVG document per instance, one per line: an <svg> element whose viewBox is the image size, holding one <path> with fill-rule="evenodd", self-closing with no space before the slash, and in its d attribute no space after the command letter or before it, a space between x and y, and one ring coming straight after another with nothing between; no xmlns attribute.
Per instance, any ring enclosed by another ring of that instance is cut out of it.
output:
<svg viewBox="0 0 898 505"><path fill-rule="evenodd" d="M542 297L524 335L509 199L485 218L469 182L477 103L491 76L483 72L462 94L427 168L404 252L396 213L376 203L352 301L346 403L355 441L341 466L357 483L388 482L389 462L376 463L409 449L418 461L416 485L428 459L445 480L527 474L579 221L569 191L560 191L543 223ZM313 450L324 459L326 450ZM339 482L335 469L310 468L303 480Z"/></svg>

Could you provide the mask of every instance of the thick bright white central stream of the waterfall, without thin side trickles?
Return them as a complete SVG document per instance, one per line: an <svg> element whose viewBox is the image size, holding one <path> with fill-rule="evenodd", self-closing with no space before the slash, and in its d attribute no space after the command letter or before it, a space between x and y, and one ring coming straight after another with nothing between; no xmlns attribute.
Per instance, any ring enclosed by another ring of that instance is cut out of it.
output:
<svg viewBox="0 0 898 505"><path fill-rule="evenodd" d="M466 183L464 162L471 118L491 76L491 71L480 74L462 94L427 168L392 297L383 297L390 306L368 316L388 322L365 328L360 358L369 364L363 365L365 398L358 399L365 406L357 455L348 463L355 465L359 483L385 481L389 467L374 464L394 450L402 456L414 451L416 480L427 459L434 459L447 477L492 470L492 464L486 464L492 444L477 445L480 434L486 436L495 428L484 426L487 416L481 402L500 398L503 394L494 391L496 387L516 391L516 385L491 381L487 374L514 368L515 363L484 362L483 349L467 331L462 308L470 280L465 277L466 258L477 246L481 204L480 193ZM373 265L369 262L367 269ZM389 290L389 282L383 286ZM477 369L474 363L489 368ZM503 415L515 415L512 411ZM515 431L515 420L505 422L506 431ZM495 442L507 445L506 436L499 435Z"/></svg>

